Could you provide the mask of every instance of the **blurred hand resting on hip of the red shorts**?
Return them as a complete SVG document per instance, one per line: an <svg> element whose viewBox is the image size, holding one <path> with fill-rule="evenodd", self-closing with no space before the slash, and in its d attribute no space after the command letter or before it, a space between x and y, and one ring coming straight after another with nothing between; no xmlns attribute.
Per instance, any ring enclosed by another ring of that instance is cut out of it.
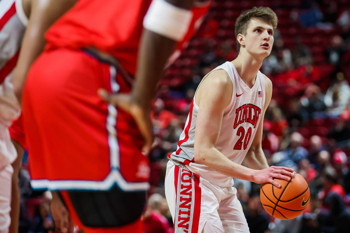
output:
<svg viewBox="0 0 350 233"><path fill-rule="evenodd" d="M104 101L123 109L134 118L145 140L142 152L148 155L153 143L152 123L149 110L142 108L132 100L130 94L110 94L105 89L98 89L98 94Z"/></svg>

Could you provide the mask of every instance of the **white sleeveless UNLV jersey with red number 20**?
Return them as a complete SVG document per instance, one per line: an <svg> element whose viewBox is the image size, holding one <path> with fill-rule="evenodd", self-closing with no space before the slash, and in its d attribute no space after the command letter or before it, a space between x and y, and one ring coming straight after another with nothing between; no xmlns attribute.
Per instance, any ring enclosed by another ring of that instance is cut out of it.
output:
<svg viewBox="0 0 350 233"><path fill-rule="evenodd" d="M215 148L231 161L241 164L252 144L262 111L264 110L265 81L261 72L258 71L254 86L249 88L239 77L235 66L231 62L226 61L226 63L216 67L212 71L219 69L225 70L228 73L233 83L233 90L231 101L224 111L220 135ZM205 75L203 80L208 74ZM188 170L200 175L203 179L211 183L223 187L232 186L232 177L196 163L194 160L194 138L198 113L198 105L195 100L196 94L192 101L185 129L180 135L177 150L169 153L168 157L176 165L186 166Z"/></svg>

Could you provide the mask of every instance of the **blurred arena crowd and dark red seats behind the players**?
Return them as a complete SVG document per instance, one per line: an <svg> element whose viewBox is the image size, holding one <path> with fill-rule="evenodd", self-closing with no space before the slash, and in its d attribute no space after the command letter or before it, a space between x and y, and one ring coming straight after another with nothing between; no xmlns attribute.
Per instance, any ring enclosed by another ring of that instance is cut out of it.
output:
<svg viewBox="0 0 350 233"><path fill-rule="evenodd" d="M176 150L202 77L236 58L235 21L253 6L271 7L278 16L272 52L261 67L273 83L262 146L269 165L293 167L307 180L311 197L301 216L282 221L262 208L260 184L235 180L250 231L350 231L350 0L216 0L166 71L153 104L147 233L172 232L164 195L167 154ZM50 193L30 188L26 158L20 172L20 232L50 232Z"/></svg>

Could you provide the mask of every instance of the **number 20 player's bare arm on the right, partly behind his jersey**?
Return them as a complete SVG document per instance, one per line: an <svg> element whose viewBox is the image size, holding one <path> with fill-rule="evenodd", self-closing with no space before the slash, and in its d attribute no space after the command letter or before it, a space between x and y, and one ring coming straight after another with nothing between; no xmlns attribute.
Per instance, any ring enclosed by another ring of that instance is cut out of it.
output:
<svg viewBox="0 0 350 233"><path fill-rule="evenodd" d="M272 82L269 78L266 77L266 75L262 74L262 77L264 77L265 80L265 90L266 90L266 97L265 97L265 104L264 104L264 110L262 112L261 120L258 125L258 130L255 133L255 137L252 141L252 145L250 146L246 156L245 161L248 163L248 166L252 169L264 169L268 167L267 160L265 157L264 152L262 151L261 147L261 140L262 140L262 128L264 125L264 116L265 111L271 101L272 96Z"/></svg>

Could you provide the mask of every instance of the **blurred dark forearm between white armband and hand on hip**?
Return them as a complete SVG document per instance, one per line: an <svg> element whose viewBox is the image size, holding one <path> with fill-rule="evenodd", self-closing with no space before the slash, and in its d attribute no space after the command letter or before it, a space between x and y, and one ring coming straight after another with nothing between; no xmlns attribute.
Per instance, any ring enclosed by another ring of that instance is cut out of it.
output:
<svg viewBox="0 0 350 233"><path fill-rule="evenodd" d="M156 85L163 75L168 57L173 52L176 41L144 30L138 55L136 81L132 90L132 99L144 109L151 107L156 93ZM147 57L147 59L144 59Z"/></svg>

